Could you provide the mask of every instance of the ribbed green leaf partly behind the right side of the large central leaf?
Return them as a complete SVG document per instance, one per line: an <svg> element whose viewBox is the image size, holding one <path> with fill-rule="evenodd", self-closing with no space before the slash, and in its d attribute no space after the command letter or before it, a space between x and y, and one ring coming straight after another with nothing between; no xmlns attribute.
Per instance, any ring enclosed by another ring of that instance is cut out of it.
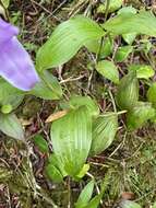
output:
<svg viewBox="0 0 156 208"><path fill-rule="evenodd" d="M99 154L107 149L113 141L118 129L118 115L106 113L104 117L98 117L93 123L93 141L91 154Z"/></svg>

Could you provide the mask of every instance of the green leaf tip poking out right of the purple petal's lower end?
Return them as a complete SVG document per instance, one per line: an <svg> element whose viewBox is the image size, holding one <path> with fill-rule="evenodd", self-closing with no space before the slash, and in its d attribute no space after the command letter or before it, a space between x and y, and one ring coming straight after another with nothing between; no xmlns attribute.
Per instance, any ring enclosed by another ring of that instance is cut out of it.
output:
<svg viewBox="0 0 156 208"><path fill-rule="evenodd" d="M62 96L62 89L57 78L49 71L45 70L40 74L40 82L29 91L29 94L41 97L44 100L59 100Z"/></svg>

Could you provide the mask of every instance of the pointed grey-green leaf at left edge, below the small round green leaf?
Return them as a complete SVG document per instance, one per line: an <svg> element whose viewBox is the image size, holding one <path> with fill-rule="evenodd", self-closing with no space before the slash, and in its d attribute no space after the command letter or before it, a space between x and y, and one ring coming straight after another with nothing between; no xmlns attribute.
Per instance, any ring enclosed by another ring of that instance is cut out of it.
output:
<svg viewBox="0 0 156 208"><path fill-rule="evenodd" d="M22 125L14 114L0 114L0 130L9 137L24 140Z"/></svg>

